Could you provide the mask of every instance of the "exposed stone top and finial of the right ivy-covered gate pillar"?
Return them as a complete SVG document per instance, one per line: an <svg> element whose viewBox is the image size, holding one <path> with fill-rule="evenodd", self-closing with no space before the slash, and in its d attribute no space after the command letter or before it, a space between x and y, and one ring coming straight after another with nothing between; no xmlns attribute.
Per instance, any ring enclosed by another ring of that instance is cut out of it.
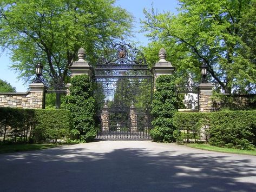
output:
<svg viewBox="0 0 256 192"><path fill-rule="evenodd" d="M159 50L159 61L155 63L154 67L152 67L152 74L154 76L154 89L155 89L155 81L156 78L160 75L172 75L175 67L173 67L172 63L166 61L166 50L161 48Z"/></svg>

